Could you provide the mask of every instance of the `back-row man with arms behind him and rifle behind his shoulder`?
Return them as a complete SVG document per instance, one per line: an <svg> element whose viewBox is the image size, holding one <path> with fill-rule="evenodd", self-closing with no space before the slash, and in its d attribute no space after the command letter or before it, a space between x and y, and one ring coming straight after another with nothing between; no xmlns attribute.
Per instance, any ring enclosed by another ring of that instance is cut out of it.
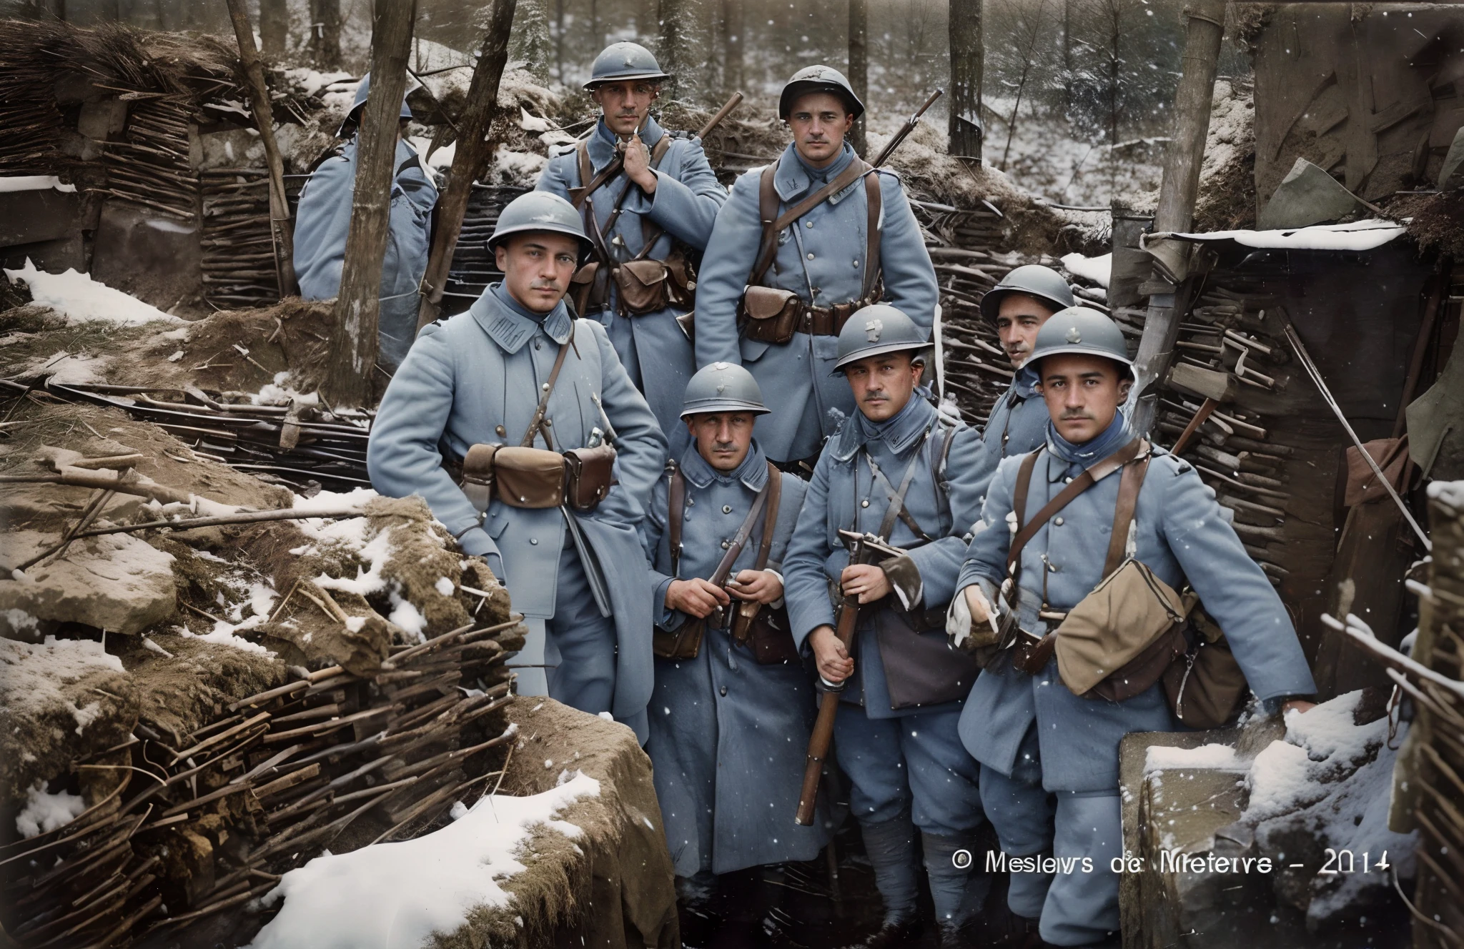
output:
<svg viewBox="0 0 1464 949"><path fill-rule="evenodd" d="M928 338L937 286L899 179L870 173L843 141L864 114L849 82L827 66L801 69L777 108L792 145L736 180L707 245L697 365L747 366L773 404L763 451L811 464L854 412L832 373L849 313L884 299Z"/></svg>

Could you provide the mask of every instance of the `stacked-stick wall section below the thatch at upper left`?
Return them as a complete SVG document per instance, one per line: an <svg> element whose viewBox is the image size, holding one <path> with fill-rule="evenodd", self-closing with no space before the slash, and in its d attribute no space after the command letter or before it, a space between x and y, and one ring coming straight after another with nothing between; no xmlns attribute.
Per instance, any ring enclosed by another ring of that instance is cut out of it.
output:
<svg viewBox="0 0 1464 949"><path fill-rule="evenodd" d="M168 217L196 220L199 182L189 163L192 100L163 92L126 95L126 141L102 144L107 185L92 190Z"/></svg>

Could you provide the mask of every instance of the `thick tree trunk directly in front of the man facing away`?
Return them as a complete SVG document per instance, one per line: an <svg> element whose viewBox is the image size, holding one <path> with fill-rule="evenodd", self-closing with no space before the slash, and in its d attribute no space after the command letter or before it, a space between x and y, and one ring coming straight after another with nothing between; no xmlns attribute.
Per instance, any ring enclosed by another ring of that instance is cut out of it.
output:
<svg viewBox="0 0 1464 949"><path fill-rule="evenodd" d="M407 56L416 18L416 0L382 0L372 19L370 94L362 108L351 226L346 236L341 291L335 300L331 362L321 387L337 406L362 406L372 391L381 268L391 227L397 123L407 89Z"/></svg>

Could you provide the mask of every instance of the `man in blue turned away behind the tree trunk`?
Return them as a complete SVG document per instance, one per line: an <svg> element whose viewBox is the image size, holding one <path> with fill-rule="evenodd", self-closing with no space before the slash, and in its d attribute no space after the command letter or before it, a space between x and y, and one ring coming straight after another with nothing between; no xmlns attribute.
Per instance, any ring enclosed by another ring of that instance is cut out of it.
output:
<svg viewBox="0 0 1464 949"><path fill-rule="evenodd" d="M341 138L350 136L350 141L325 157L300 192L294 221L294 272L300 296L306 300L328 300L341 291L341 265L346 262L346 236L351 227L351 195L356 189L356 132L369 86L367 73L356 86L356 103L337 132ZM376 328L378 362L388 373L397 371L417 335L417 287L427 271L432 208L438 204L436 185L423 170L416 149L401 136L407 119L411 119L411 110L403 100Z"/></svg>

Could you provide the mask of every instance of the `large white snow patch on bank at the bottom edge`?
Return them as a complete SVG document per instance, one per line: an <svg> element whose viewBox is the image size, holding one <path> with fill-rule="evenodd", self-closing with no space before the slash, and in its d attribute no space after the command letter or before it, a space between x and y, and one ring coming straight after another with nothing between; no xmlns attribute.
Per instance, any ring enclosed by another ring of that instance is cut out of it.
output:
<svg viewBox="0 0 1464 949"><path fill-rule="evenodd" d="M284 908L250 948L408 949L451 934L473 909L508 905L501 883L527 870L520 857L536 827L583 836L556 816L599 794L600 782L577 772L543 794L483 797L423 838L316 857L264 898Z"/></svg>

